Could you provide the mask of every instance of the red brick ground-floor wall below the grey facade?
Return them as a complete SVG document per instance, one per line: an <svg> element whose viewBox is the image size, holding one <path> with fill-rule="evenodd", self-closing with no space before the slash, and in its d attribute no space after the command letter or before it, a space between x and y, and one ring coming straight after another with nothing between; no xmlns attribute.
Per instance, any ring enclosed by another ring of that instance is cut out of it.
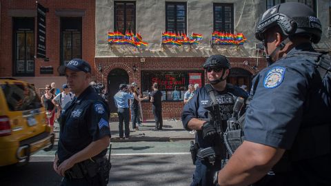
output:
<svg viewBox="0 0 331 186"><path fill-rule="evenodd" d="M137 82L138 87L141 87L141 70L203 70L202 65L205 62L206 57L148 57L145 58L145 62L140 62L139 57L110 57L110 58L96 58L96 66L101 65L103 68L103 82L107 82L107 76L114 68L122 68L126 70L129 75L129 82ZM232 68L243 68L248 70L252 74L256 74L252 66L257 65L257 59L255 58L229 58ZM243 61L248 61L248 65L244 65ZM137 72L133 72L132 67L137 67ZM264 59L259 59L258 70L265 68L266 63ZM101 82L102 74L97 72L95 77L98 82ZM208 79L205 77L205 83L208 83ZM163 118L180 118L183 111L183 102L162 102L162 116ZM154 118L152 114L152 103L141 103L143 109L144 118Z"/></svg>

